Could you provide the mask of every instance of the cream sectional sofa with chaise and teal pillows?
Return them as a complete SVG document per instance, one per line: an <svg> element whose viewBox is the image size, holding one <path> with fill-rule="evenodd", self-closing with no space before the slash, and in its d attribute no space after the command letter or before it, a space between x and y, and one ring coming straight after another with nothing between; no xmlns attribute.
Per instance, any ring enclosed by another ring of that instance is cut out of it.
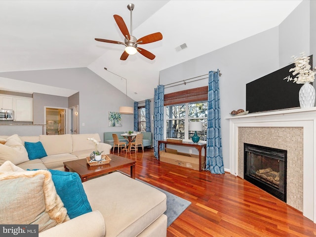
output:
<svg viewBox="0 0 316 237"><path fill-rule="evenodd" d="M5 190L8 190L7 187L2 188L4 191L1 189L1 186L3 187L2 184L5 184L6 181L3 177L14 179L14 175L19 175L19 172L24 172L20 175L20 177L23 176L22 181L12 183L15 185L20 185L20 188L18 188L19 192L15 192L15 189L12 187L11 184L8 186L9 189L12 190L10 194L7 194L7 197L9 197L13 201L15 200L17 202L18 208L25 208L25 210L23 211L21 211L20 209L17 213L26 213L25 216L28 217L31 215L31 212L37 209L35 207L33 208L29 206L28 204L24 206L20 204L21 200L19 198L21 198L21 189L25 187L25 185L23 184L24 180L26 180L26 178L24 177L25 172L30 172L31 174L33 172L33 176L39 178L43 176L42 173L45 173L45 177L48 176L48 178L45 178L47 179L46 182L53 182L52 176L51 178L49 178L50 172L52 171L26 171L25 169L48 168L63 170L64 161L85 158L91 153L91 151L94 150L94 144L90 141L87 141L87 138L89 137L94 137L95 139L100 140L97 134L42 135L38 137L21 137L23 141L40 141L43 144L44 149L46 150L47 157L21 162L21 160L26 159L24 155L21 155L19 157L16 157L15 159L10 158L11 161L5 162L3 158L0 160L2 161L0 162L0 192L6 192ZM12 145L12 147L22 148L19 145L20 142L18 140L20 138L17 135L14 135L11 138L8 136L0 136L0 142L1 139L3 142L8 138L9 140L14 141L10 144ZM104 150L107 154L110 152L111 146L108 144L104 145L101 145L100 147L98 145L98 150ZM5 148L3 146L5 145L0 144L0 157L1 152L2 155L4 155ZM18 152L21 152L22 154L24 150L20 149ZM16 165L14 165L13 162L15 162ZM9 170L12 171L11 173L3 172L3 170L8 167L7 163L10 163L10 165L13 167L10 168L11 170ZM5 165L6 167L3 167ZM60 172L57 170L55 170L55 172ZM39 172L39 174L35 175L34 173L37 172ZM65 174L65 172L62 173ZM2 183L2 181L4 182ZM72 184L74 184L74 182L72 182ZM81 185L80 180L79 185ZM76 185L74 184L71 186ZM81 186L83 186L84 193L87 197L92 211L81 214L70 220L66 216L66 218L63 219L63 221L59 224L49 228L46 227L43 231L39 233L39 237L166 237L167 217L163 214L166 210L166 195L158 191L157 189L137 180L131 179L130 177L120 172L114 172L88 180L82 183ZM45 187L47 187L47 185ZM70 185L67 187L70 187ZM29 190L29 187L26 190ZM54 191L55 196L56 190ZM24 190L23 192L27 191ZM39 191L37 190L37 192ZM34 193L34 195L36 195L37 192L30 191L30 195ZM71 196L73 197L75 193L76 192L72 192ZM17 195L17 197L14 197L14 195ZM53 195L49 194L48 197L53 197ZM9 198L0 199L1 224L5 224L5 220L8 220L10 218L11 213L15 213L15 211L8 211L8 213L5 213L5 210L7 210L8 207L14 209L12 201L8 200ZM32 203L33 198L29 197L28 195L28 198L26 198L26 200L28 200L27 203ZM6 202L9 202L10 204ZM39 202L37 200L33 201L33 203L35 206L39 205ZM46 201L43 203L46 203ZM77 202L76 206L78 206ZM59 208L64 207L60 207L59 204ZM43 209L43 212L46 212L46 210L47 207ZM38 214L38 217L43 216L42 213ZM20 215L21 214L18 215L19 218ZM30 223L32 222L23 222L23 224ZM6 224L19 223L12 223L12 221L8 221L8 223Z"/></svg>

